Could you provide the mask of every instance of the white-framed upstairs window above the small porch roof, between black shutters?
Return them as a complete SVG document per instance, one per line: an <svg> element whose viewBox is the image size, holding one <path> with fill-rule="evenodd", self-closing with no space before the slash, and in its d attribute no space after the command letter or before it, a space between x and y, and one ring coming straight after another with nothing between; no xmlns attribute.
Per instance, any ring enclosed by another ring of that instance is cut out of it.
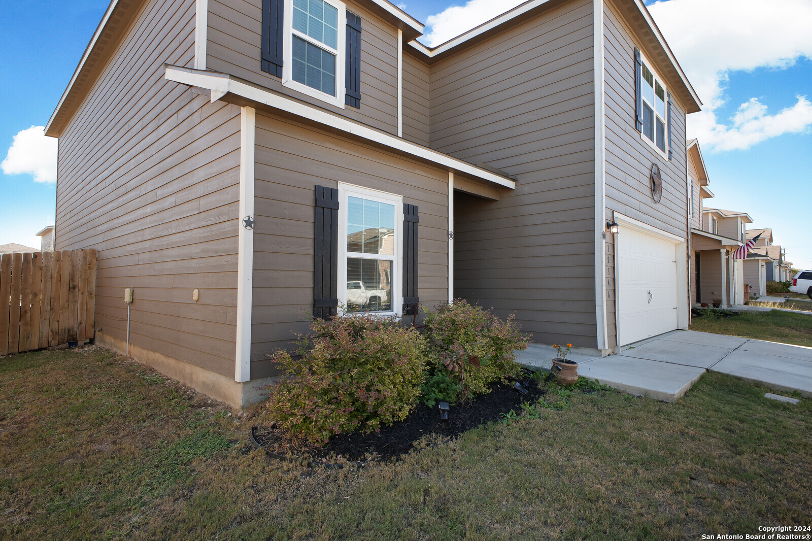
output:
<svg viewBox="0 0 812 541"><path fill-rule="evenodd" d="M282 84L343 109L346 7L336 0L284 2Z"/></svg>

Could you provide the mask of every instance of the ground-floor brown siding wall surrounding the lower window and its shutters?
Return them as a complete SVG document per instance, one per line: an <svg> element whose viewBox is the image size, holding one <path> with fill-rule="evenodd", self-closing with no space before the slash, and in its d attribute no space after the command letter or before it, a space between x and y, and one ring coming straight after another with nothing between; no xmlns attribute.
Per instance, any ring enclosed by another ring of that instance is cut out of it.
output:
<svg viewBox="0 0 812 541"><path fill-rule="evenodd" d="M257 113L256 158L252 378L274 374L268 354L307 330L317 184L343 181L417 205L420 301L447 299L447 171L264 113Z"/></svg>

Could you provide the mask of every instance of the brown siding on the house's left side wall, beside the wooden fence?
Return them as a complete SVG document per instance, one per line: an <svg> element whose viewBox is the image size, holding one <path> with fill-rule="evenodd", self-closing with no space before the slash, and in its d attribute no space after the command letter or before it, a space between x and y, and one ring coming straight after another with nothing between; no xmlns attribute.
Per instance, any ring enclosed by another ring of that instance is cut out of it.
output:
<svg viewBox="0 0 812 541"><path fill-rule="evenodd" d="M195 2L146 2L59 138L57 249L96 248L96 325L234 376L240 108L163 79ZM192 291L200 300L192 301Z"/></svg>

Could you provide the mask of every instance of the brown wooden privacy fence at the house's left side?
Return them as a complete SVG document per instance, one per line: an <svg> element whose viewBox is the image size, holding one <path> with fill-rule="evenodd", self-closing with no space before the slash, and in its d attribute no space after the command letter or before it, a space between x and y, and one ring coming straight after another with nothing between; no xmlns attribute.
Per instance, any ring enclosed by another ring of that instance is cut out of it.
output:
<svg viewBox="0 0 812 541"><path fill-rule="evenodd" d="M93 338L96 250L3 253L0 355Z"/></svg>

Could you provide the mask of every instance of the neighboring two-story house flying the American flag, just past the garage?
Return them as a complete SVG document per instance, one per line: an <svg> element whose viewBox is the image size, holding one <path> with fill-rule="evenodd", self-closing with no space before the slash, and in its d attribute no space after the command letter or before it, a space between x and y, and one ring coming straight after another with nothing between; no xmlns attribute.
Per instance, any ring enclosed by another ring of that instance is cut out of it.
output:
<svg viewBox="0 0 812 541"><path fill-rule="evenodd" d="M694 305L729 306L744 302L743 266L732 253L743 244L745 213L706 209L702 201L714 197L696 139L688 141L688 179L691 227L691 302Z"/></svg>

